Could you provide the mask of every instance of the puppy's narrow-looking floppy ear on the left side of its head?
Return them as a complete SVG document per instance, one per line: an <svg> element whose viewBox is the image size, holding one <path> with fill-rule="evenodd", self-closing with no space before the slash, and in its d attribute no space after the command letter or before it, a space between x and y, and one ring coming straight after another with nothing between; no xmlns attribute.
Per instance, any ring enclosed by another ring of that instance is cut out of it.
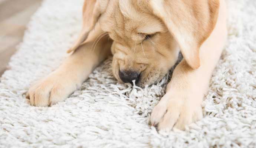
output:
<svg viewBox="0 0 256 148"><path fill-rule="evenodd" d="M83 4L83 26L82 31L75 44L67 51L75 51L85 41L93 30L99 17L105 12L109 0L85 0Z"/></svg>

